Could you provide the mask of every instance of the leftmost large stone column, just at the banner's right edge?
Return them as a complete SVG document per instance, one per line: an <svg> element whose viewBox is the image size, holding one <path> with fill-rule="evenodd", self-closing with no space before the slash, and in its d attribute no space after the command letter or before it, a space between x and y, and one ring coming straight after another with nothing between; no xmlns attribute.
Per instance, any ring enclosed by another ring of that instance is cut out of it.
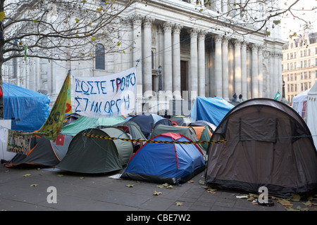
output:
<svg viewBox="0 0 317 225"><path fill-rule="evenodd" d="M137 63L137 60L142 58L142 17L135 15L132 19L133 23L133 62L137 65L137 100L142 99L142 63ZM137 109L142 110L142 109Z"/></svg>

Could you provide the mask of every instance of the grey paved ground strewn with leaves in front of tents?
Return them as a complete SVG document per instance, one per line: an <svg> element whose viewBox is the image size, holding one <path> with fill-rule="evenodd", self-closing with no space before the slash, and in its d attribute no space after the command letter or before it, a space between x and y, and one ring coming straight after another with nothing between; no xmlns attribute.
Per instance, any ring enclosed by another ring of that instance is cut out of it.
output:
<svg viewBox="0 0 317 225"><path fill-rule="evenodd" d="M52 168L15 169L0 165L0 211L121 211L126 217L138 212L179 212L187 215L206 211L287 211L290 208L273 200L273 206L255 205L235 193L204 188L204 172L191 183L173 188L159 184L114 179L113 174L89 175L61 172ZM199 182L200 181L200 182ZM129 187L130 186L130 187ZM54 187L56 189L49 189ZM53 191L51 191L53 190ZM154 191L161 193L154 195ZM56 193L56 195L54 195ZM54 198L54 197L57 198ZM56 200L56 203L54 203ZM51 202L51 203L49 203ZM317 211L307 200L291 202L292 210ZM315 214L316 215L316 214Z"/></svg>

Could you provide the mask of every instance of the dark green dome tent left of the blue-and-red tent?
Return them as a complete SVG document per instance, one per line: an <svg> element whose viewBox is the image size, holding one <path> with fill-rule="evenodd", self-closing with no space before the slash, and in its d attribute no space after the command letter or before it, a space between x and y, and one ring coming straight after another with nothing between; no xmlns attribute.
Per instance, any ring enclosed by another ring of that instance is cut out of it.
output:
<svg viewBox="0 0 317 225"><path fill-rule="evenodd" d="M85 129L74 136L68 147L68 153L56 168L69 172L100 174L115 172L128 164L133 151L130 141L118 139L112 141L85 136L84 133L129 139L125 132L116 127Z"/></svg>

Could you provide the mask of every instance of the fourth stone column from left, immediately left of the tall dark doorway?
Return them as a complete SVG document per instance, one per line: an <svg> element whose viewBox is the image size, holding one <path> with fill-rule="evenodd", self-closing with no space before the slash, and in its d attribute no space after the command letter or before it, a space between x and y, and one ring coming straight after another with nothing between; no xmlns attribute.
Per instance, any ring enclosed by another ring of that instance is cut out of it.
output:
<svg viewBox="0 0 317 225"><path fill-rule="evenodd" d="M175 99L182 99L180 93L180 30L181 25L173 27L173 95Z"/></svg>

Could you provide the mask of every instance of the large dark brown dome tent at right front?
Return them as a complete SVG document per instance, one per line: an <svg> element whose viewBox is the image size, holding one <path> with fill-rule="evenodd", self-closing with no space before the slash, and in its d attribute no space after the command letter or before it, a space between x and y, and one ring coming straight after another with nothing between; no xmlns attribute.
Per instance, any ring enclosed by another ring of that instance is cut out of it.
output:
<svg viewBox="0 0 317 225"><path fill-rule="evenodd" d="M254 98L232 108L211 136L206 183L280 198L317 191L317 153L302 117L285 103Z"/></svg>

